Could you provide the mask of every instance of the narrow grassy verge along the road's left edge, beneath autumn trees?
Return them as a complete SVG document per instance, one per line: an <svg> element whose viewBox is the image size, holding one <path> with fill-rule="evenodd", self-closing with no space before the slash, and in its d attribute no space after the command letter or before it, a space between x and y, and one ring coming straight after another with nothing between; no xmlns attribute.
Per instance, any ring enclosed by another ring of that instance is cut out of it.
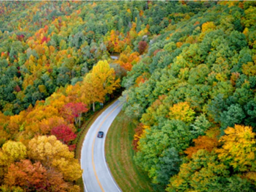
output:
<svg viewBox="0 0 256 192"><path fill-rule="evenodd" d="M82 125L81 130L79 132L79 135L77 135L77 143L76 143L76 150L75 150L75 158L79 160L80 162L80 158L81 158L81 150L82 150L82 146L83 146L83 142L85 139L85 135L87 134L89 128L91 127L91 124L93 124L93 122L102 114L102 112L107 109L107 107L109 107L111 104L114 103L114 101L116 101L116 99L114 99L113 101L111 101L110 103L106 104L103 109L97 110L93 115L91 115L90 118L88 118L88 120ZM76 181L76 185L79 185L80 187L80 191L84 191L84 182L83 179L80 178Z"/></svg>

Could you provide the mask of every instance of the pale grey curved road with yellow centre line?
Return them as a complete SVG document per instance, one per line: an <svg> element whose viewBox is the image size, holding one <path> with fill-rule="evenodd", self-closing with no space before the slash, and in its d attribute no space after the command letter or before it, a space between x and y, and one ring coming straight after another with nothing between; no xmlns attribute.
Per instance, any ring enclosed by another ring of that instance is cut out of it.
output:
<svg viewBox="0 0 256 192"><path fill-rule="evenodd" d="M114 118L122 109L120 101L111 104L91 125L85 136L81 153L81 167L86 192L120 192L111 176L105 159L105 138ZM103 131L103 138L97 132Z"/></svg>

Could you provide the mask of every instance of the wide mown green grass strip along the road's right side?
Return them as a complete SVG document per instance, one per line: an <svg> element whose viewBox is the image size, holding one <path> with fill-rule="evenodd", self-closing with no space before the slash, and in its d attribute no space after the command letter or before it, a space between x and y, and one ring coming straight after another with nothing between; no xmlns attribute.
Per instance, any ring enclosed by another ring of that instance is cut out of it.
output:
<svg viewBox="0 0 256 192"><path fill-rule="evenodd" d="M105 154L111 173L123 192L150 192L150 179L133 160L133 120L120 112L111 124L105 143Z"/></svg>

